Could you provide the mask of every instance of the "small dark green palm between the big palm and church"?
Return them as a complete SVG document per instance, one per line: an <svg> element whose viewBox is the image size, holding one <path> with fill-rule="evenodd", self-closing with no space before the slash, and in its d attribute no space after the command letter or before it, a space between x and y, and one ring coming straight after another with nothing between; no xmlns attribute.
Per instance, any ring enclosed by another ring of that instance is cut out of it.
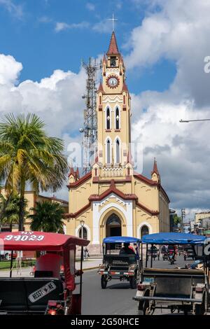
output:
<svg viewBox="0 0 210 329"><path fill-rule="evenodd" d="M36 202L36 207L30 210L34 211L34 214L27 216L31 218L31 230L63 233L64 209L61 204L49 201Z"/></svg>

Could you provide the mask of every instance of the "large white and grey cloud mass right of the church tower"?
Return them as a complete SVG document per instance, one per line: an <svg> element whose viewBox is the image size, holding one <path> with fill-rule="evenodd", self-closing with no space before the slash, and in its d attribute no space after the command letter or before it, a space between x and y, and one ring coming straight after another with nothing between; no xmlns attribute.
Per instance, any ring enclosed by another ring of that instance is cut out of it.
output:
<svg viewBox="0 0 210 329"><path fill-rule="evenodd" d="M130 50L127 68L137 74L142 67L169 59L176 63L176 76L166 92L132 95L132 138L144 145L144 173L149 175L153 157L158 159L172 207L209 209L209 122L179 120L210 118L210 74L204 73L204 57L210 55L210 2L150 4L159 10L133 29L125 45Z"/></svg>

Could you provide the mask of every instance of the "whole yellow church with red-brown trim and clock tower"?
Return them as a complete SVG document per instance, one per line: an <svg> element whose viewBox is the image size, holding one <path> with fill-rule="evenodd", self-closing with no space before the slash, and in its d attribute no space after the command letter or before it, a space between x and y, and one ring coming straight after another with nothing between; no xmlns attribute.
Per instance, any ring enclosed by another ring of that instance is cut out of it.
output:
<svg viewBox="0 0 210 329"><path fill-rule="evenodd" d="M66 233L90 240L90 253L102 251L107 236L141 237L169 232L169 197L160 183L156 160L151 178L134 172L131 143L131 97L125 65L113 32L102 62L97 90L97 156L91 172L69 173Z"/></svg>

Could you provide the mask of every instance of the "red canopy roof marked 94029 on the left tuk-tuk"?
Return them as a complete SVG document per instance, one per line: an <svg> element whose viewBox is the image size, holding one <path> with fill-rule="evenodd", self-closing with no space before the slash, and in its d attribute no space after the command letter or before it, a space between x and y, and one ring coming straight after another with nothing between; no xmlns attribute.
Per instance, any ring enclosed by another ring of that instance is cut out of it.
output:
<svg viewBox="0 0 210 329"><path fill-rule="evenodd" d="M69 246L87 246L90 241L49 232L3 232L0 248L8 251L64 251Z"/></svg>

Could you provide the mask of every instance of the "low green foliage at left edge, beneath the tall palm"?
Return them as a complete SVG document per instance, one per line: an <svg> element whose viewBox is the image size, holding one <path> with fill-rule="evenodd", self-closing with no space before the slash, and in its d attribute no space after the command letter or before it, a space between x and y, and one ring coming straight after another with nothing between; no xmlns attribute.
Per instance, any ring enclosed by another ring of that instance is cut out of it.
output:
<svg viewBox="0 0 210 329"><path fill-rule="evenodd" d="M24 201L24 207L27 206L27 200ZM10 231L12 231L13 224L19 223L19 212L20 212L20 196L10 195L9 197L4 197L0 194L0 223L8 224L10 226ZM25 211L25 214L26 211Z"/></svg>

